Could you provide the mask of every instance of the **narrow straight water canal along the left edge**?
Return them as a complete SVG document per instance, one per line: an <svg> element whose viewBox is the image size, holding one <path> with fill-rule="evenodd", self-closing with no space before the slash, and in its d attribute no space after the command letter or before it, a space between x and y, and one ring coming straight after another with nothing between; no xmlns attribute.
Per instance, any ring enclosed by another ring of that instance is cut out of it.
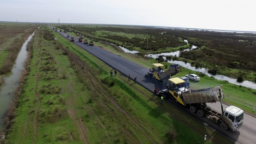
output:
<svg viewBox="0 0 256 144"><path fill-rule="evenodd" d="M23 63L27 58L27 44L33 37L34 33L30 35L22 45L11 72L4 74L5 83L0 88L0 131L5 127L3 116L6 114L8 105L13 99L13 93L19 85L19 77L24 69Z"/></svg>

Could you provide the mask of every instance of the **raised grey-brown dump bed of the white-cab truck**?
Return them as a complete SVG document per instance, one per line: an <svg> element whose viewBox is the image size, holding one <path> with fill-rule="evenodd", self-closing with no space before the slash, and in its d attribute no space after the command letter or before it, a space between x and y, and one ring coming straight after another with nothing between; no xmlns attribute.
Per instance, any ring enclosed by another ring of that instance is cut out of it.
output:
<svg viewBox="0 0 256 144"><path fill-rule="evenodd" d="M221 89L221 96L224 98L221 86L222 85L200 90L190 90L183 92L181 96L186 104L215 103L219 101L219 88Z"/></svg>

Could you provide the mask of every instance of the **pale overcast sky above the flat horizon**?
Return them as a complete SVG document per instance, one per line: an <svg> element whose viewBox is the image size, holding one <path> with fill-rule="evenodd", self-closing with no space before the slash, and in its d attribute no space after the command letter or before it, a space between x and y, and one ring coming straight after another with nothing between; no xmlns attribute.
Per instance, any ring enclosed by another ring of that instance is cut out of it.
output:
<svg viewBox="0 0 256 144"><path fill-rule="evenodd" d="M256 31L254 0L0 0L0 21Z"/></svg>

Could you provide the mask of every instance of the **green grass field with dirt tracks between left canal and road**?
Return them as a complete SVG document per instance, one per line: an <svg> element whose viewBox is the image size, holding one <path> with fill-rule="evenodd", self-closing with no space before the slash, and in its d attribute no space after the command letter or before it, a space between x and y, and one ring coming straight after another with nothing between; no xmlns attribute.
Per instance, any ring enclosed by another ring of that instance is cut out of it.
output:
<svg viewBox="0 0 256 144"><path fill-rule="evenodd" d="M67 39L44 34L35 34L6 143L229 143L119 72L110 77L112 68Z"/></svg>

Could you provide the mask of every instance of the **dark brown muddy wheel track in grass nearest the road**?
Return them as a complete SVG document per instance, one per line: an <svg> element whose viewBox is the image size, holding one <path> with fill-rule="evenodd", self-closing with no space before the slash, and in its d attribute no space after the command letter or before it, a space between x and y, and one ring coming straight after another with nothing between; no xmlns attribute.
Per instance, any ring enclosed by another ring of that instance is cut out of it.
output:
<svg viewBox="0 0 256 144"><path fill-rule="evenodd" d="M75 55L72 54L72 53L71 53L71 55L72 55L72 56L71 56L70 58L73 59L73 60L70 60L70 61L76 62L80 67L83 67L84 70L89 70L89 69L90 69L89 66L88 66L87 64L85 64L79 57L75 56ZM98 81L98 80L96 80L96 78L92 76L91 71L89 70L89 71L84 71L84 72L86 73L86 75L88 76L88 78L90 79L90 81L92 82L92 84L93 84L93 86L95 87L95 89L97 89L97 92L98 92L101 96L107 96L107 97L109 98L110 102L115 105L116 110L119 110L120 112L122 112L122 114L127 118L127 120L132 121L132 123L134 123L138 128L142 129L141 131L145 134L145 136L148 138L148 140L151 141L151 143L155 143L155 142L151 139L150 134L149 134L148 132L145 132L145 131L147 131L147 129L146 129L140 122L138 122L135 118L133 118L132 116L130 116L129 114L127 114L127 113L125 112L125 110L124 110L123 108L121 108L121 107L117 104L117 102L111 97L111 95L110 95L109 93L106 93L106 92L105 92L106 88L104 88L102 85L99 86L99 85L97 85L97 84L94 82L94 81ZM106 103L105 103L105 105L106 105ZM107 105L106 105L106 106L107 106ZM112 113L114 113L114 111L113 111ZM116 113L114 113L114 115L117 116ZM116 118L116 119L118 119L118 118ZM130 125L130 126L131 126L131 125Z"/></svg>

